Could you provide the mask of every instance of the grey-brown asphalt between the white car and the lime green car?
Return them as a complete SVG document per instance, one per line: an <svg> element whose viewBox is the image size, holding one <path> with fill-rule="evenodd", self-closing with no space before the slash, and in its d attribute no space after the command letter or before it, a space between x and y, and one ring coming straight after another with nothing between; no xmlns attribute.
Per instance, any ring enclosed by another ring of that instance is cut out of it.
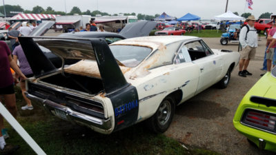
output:
<svg viewBox="0 0 276 155"><path fill-rule="evenodd" d="M248 71L253 76L237 75L238 66L231 74L226 89L210 87L189 101L179 105L166 136L187 145L211 149L220 154L273 154L259 151L239 134L233 126L233 117L242 98L259 79L263 64L266 39L258 42L255 59L250 61ZM219 38L204 38L210 48L237 51L237 43L221 45Z"/></svg>

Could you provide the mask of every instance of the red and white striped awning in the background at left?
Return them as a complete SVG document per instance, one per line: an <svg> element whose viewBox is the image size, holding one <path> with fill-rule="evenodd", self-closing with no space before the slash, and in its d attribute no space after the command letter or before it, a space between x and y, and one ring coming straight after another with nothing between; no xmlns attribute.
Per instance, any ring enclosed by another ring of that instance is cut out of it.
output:
<svg viewBox="0 0 276 155"><path fill-rule="evenodd" d="M59 14L17 14L12 17L12 20L37 20L41 21L41 19L56 19Z"/></svg>

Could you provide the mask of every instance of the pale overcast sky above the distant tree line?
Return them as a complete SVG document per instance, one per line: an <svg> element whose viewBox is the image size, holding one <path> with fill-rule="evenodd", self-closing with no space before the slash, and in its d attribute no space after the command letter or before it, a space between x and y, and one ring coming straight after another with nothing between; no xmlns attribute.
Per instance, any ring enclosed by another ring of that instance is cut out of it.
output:
<svg viewBox="0 0 276 155"><path fill-rule="evenodd" d="M19 5L24 10L32 10L34 6L46 9L48 6L56 11L70 12L72 7L77 6L82 12L97 10L101 12L131 13L136 14L161 14L166 12L173 17L182 17L190 12L201 19L212 19L213 16L225 12L227 0L6 0L5 4ZM250 12L256 18L264 12L276 13L276 0L253 0L253 10L249 10L246 0L228 0L228 10L238 12L239 15ZM0 1L1 5L3 2ZM65 5L66 4L66 5Z"/></svg>

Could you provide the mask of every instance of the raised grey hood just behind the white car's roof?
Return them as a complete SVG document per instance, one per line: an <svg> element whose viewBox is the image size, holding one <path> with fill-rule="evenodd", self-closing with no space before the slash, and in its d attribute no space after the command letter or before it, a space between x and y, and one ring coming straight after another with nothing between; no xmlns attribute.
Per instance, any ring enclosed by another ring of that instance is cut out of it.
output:
<svg viewBox="0 0 276 155"><path fill-rule="evenodd" d="M123 30L119 32L119 34L127 39L148 36L150 31L155 28L156 24L157 23L155 21L138 21L135 23L128 23Z"/></svg>

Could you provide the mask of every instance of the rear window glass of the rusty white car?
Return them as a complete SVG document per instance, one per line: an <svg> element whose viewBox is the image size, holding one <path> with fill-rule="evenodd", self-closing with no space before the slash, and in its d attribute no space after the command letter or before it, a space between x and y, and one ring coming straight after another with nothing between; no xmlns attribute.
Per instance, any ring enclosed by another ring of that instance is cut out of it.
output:
<svg viewBox="0 0 276 155"><path fill-rule="evenodd" d="M135 45L110 45L109 47L115 59L129 68L139 65L152 51L151 48Z"/></svg>

